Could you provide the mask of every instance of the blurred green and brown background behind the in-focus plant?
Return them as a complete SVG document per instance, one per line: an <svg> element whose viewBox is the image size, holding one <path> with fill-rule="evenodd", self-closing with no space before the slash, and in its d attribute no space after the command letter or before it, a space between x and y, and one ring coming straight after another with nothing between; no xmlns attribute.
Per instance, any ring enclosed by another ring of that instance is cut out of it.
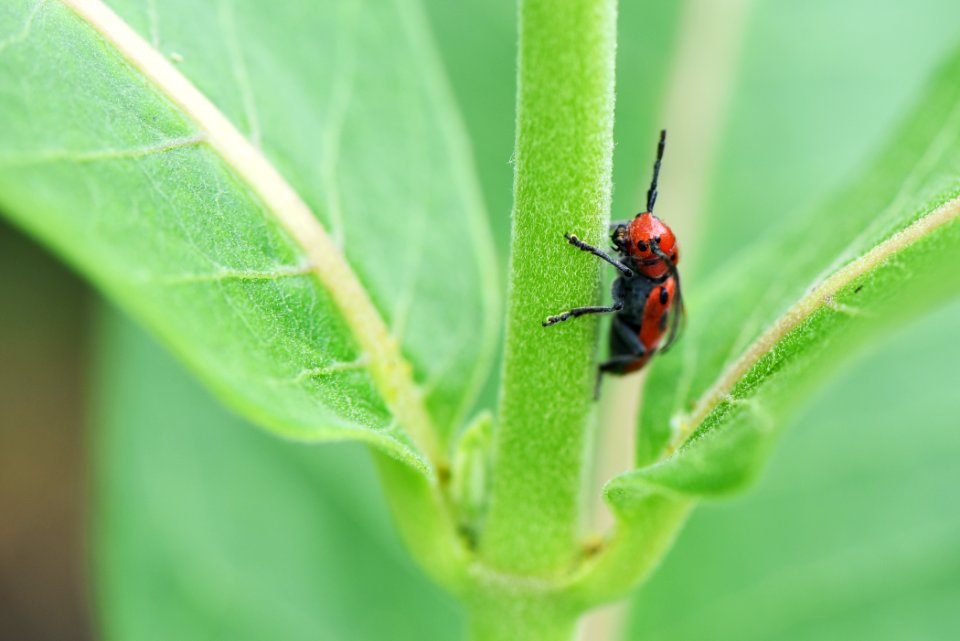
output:
<svg viewBox="0 0 960 641"><path fill-rule="evenodd" d="M671 164L670 148L664 166L658 208L689 241L688 284L842 185L960 44L949 0L756 0L740 18L725 4L621 7L614 216L639 205L656 129L689 118L665 104L701 105L704 83L677 69L726 79L723 100L701 107L716 123L706 173L685 174L694 163ZM505 265L515 8L427 9ZM695 19L711 11L728 19ZM709 49L724 33L726 66ZM678 52L700 62L677 66ZM674 214L684 190L702 192L698 211ZM455 601L389 527L361 448L244 425L5 226L0 273L0 636L460 634ZM955 636L958 362L952 304L838 372L754 491L698 508L634 599L626 638Z"/></svg>

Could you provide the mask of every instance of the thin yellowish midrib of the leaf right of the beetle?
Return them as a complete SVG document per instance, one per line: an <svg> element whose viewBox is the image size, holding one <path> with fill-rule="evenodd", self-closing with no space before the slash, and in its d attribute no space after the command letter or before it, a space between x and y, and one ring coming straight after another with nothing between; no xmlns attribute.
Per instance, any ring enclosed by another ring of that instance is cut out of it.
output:
<svg viewBox="0 0 960 641"><path fill-rule="evenodd" d="M940 205L913 224L900 230L882 243L874 246L856 260L835 272L810 290L797 301L767 331L761 334L744 352L720 375L714 384L697 401L693 411L684 417L680 429L670 441L658 462L669 458L683 445L727 397L734 386L756 365L760 358L770 352L802 322L810 318L817 310L825 306L836 306L835 296L844 286L867 274L896 254L933 233L960 215L960 197Z"/></svg>

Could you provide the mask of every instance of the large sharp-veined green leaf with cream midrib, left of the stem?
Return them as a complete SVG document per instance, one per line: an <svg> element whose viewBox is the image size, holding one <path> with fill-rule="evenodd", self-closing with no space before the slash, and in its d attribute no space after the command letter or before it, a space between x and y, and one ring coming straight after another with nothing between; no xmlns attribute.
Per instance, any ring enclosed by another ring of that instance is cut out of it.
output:
<svg viewBox="0 0 960 641"><path fill-rule="evenodd" d="M0 206L248 418L442 458L497 294L416 3L111 6L0 10Z"/></svg>

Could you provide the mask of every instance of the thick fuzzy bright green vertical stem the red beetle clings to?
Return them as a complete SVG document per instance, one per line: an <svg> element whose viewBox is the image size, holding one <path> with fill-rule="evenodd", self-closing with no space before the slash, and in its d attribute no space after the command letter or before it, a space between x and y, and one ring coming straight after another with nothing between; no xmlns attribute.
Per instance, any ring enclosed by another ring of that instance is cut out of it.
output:
<svg viewBox="0 0 960 641"><path fill-rule="evenodd" d="M543 319L597 302L613 151L615 0L522 0L513 245L486 562L550 576L575 559L597 321Z"/></svg>

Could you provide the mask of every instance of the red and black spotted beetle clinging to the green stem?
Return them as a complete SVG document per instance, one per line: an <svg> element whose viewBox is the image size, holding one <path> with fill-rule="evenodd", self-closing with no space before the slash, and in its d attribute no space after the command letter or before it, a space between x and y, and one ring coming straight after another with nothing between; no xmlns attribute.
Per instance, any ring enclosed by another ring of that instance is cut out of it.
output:
<svg viewBox="0 0 960 641"><path fill-rule="evenodd" d="M543 322L544 327L587 314L613 314L610 329L610 357L597 371L597 392L604 374L628 374L642 368L657 352L666 352L680 330L684 314L677 272L679 253L673 231L653 215L657 202L657 178L666 147L667 132L660 132L653 179L647 191L647 210L633 220L610 225L611 242L618 257L583 242L573 234L567 241L611 265L619 277L613 281L613 304L603 307L575 307Z"/></svg>

